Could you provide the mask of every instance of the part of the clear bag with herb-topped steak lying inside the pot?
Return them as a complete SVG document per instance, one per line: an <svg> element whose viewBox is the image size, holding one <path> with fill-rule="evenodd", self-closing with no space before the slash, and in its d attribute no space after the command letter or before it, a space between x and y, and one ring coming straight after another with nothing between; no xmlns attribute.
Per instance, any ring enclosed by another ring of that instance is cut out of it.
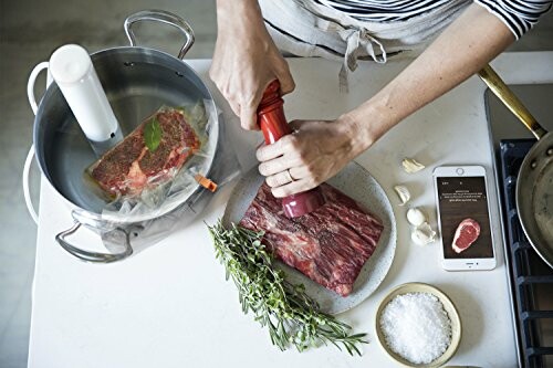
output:
<svg viewBox="0 0 553 368"><path fill-rule="evenodd" d="M205 185L218 148L210 137L217 112L205 106L161 106L86 169L91 189L106 201L105 220L163 215Z"/></svg>

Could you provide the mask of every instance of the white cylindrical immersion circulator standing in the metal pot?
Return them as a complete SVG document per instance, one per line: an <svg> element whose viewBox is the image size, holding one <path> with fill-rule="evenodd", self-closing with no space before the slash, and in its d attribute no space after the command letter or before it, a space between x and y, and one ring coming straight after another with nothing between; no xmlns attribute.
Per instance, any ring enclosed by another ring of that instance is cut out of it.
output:
<svg viewBox="0 0 553 368"><path fill-rule="evenodd" d="M85 49L66 44L55 50L50 57L50 73L97 156L123 139L119 124Z"/></svg>

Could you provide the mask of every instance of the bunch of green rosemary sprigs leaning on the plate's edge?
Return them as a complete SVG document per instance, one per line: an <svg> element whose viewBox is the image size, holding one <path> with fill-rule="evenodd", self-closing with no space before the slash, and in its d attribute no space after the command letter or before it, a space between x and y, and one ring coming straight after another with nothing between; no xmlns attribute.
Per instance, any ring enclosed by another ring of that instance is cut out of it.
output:
<svg viewBox="0 0 553 368"><path fill-rule="evenodd" d="M252 311L254 319L269 328L273 345L284 350L293 344L303 351L331 343L361 356L357 345L367 344L366 334L349 335L352 327L321 312L303 284L288 282L283 271L273 267L273 254L261 243L263 232L239 225L226 229L220 221L208 229L226 277L231 277L238 288L243 313Z"/></svg>

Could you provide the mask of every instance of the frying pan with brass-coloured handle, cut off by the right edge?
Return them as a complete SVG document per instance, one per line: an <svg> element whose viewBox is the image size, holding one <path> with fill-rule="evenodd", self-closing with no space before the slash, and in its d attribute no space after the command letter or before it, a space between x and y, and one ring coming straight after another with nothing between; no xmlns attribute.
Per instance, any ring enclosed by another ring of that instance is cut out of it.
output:
<svg viewBox="0 0 553 368"><path fill-rule="evenodd" d="M490 65L480 77L532 132L538 143L524 158L517 179L517 210L528 240L553 269L553 133L546 132Z"/></svg>

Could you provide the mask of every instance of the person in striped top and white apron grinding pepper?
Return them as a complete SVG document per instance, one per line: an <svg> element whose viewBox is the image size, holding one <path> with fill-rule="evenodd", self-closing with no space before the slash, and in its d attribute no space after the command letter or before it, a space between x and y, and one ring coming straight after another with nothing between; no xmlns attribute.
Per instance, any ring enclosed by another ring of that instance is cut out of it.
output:
<svg viewBox="0 0 553 368"><path fill-rule="evenodd" d="M210 67L244 129L259 129L257 107L279 80L294 81L281 51L343 57L342 86L357 59L416 59L384 88L334 120L294 120L294 134L257 150L275 197L316 187L405 117L453 88L522 36L551 0L217 0ZM264 20L263 20L264 17Z"/></svg>

